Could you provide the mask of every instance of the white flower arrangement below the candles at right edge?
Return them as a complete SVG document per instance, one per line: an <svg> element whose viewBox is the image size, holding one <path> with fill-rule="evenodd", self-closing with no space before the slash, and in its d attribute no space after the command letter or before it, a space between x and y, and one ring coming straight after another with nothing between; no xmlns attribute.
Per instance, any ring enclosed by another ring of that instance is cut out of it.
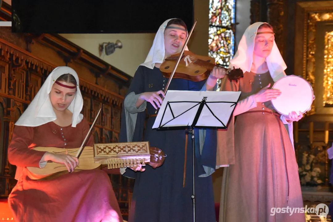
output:
<svg viewBox="0 0 333 222"><path fill-rule="evenodd" d="M298 168L301 185L318 186L323 183L318 178L321 170L318 167L313 168L315 162L317 162L317 159L314 155L303 153L302 167Z"/></svg>

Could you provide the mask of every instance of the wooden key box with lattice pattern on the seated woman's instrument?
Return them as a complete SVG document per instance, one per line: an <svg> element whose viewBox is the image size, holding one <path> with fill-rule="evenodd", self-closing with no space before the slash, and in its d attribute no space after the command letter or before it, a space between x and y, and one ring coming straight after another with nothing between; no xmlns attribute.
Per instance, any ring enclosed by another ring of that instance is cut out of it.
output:
<svg viewBox="0 0 333 222"><path fill-rule="evenodd" d="M148 141L94 144L94 162L108 165L108 169L145 166L150 156Z"/></svg>

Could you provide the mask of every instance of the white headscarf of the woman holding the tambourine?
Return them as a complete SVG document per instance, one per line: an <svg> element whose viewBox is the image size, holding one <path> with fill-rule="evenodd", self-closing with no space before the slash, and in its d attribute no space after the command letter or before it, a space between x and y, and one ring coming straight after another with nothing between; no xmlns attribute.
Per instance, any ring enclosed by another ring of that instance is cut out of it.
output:
<svg viewBox="0 0 333 222"><path fill-rule="evenodd" d="M247 27L243 34L243 37L239 42L238 50L234 58L230 60L229 68L240 68L243 70L243 72L251 71L251 66L253 62L254 39L259 26L264 23L265 22L256 22ZM284 73L284 70L287 68L287 66L283 61L283 58L280 54L279 49L276 46L275 41L273 42L273 48L271 53L266 58L266 63L269 73L274 82L286 75Z"/></svg>

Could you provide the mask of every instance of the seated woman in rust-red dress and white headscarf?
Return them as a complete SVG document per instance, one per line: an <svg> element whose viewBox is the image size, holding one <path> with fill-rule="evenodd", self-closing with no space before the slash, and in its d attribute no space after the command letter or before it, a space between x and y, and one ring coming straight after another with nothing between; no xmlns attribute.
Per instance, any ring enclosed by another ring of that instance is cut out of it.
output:
<svg viewBox="0 0 333 222"><path fill-rule="evenodd" d="M73 172L80 158L33 149L80 147L89 131L82 107L78 75L57 67L15 123L8 147L8 160L17 166L18 182L8 198L15 221L123 221L106 172ZM87 146L92 145L90 137ZM64 164L67 173L36 180L28 168L45 167L47 161Z"/></svg>

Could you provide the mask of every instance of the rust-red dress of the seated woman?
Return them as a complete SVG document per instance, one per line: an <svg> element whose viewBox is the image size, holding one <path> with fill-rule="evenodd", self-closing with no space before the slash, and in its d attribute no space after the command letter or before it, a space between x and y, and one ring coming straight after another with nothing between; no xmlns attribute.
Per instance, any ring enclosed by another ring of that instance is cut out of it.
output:
<svg viewBox="0 0 333 222"><path fill-rule="evenodd" d="M123 221L110 178L102 170L66 173L49 180L27 176L26 167L40 167L45 153L33 147L78 148L88 131L85 118L76 127L61 127L54 122L14 127L8 160L17 166L18 182L8 203L16 221ZM92 145L91 136L87 146Z"/></svg>

